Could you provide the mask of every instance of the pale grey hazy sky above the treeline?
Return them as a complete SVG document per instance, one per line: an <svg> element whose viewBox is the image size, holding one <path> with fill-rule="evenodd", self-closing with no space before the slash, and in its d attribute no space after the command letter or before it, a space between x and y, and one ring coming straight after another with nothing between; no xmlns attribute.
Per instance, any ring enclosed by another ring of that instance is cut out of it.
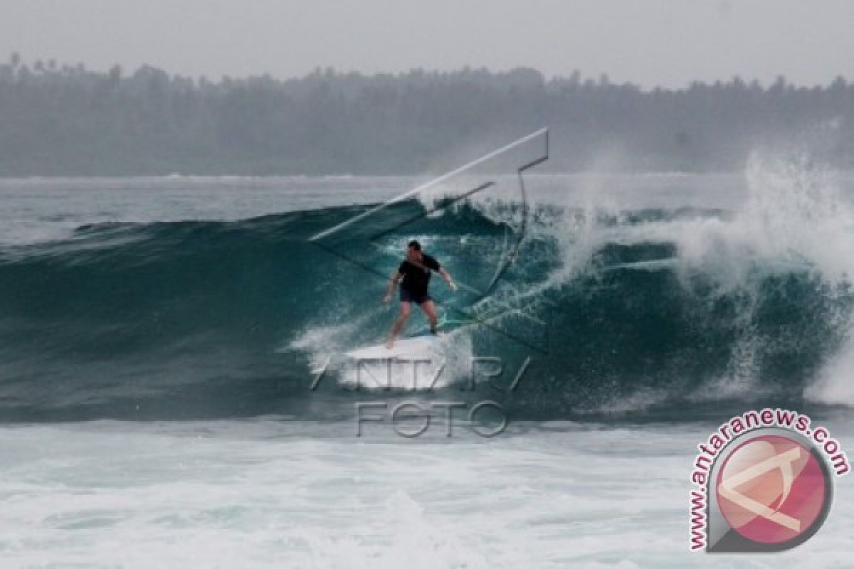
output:
<svg viewBox="0 0 854 569"><path fill-rule="evenodd" d="M219 78L469 65L680 87L854 78L852 0L0 0L0 57Z"/></svg>

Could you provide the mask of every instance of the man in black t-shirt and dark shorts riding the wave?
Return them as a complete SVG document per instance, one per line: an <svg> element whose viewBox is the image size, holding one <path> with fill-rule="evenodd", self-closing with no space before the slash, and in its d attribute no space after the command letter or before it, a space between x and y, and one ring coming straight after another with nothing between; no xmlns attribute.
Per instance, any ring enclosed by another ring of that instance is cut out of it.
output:
<svg viewBox="0 0 854 569"><path fill-rule="evenodd" d="M421 244L418 241L410 241L407 246L407 258L403 260L401 266L395 270L389 280L389 287L386 289L385 302L391 300L392 293L395 292L397 283L403 279L401 283L401 313L395 319L395 324L389 332L389 339L385 342L385 347L390 348L395 345L395 338L400 334L403 325L407 323L411 303L414 302L421 307L427 319L430 320L430 331L436 334L436 326L438 325L438 317L436 316L436 305L433 304L433 299L430 298L430 293L427 287L430 286L430 276L433 271L439 273L447 282L447 286L451 290L457 290L457 285L453 284L451 276L447 273L444 267L436 261L435 258L421 251Z"/></svg>

